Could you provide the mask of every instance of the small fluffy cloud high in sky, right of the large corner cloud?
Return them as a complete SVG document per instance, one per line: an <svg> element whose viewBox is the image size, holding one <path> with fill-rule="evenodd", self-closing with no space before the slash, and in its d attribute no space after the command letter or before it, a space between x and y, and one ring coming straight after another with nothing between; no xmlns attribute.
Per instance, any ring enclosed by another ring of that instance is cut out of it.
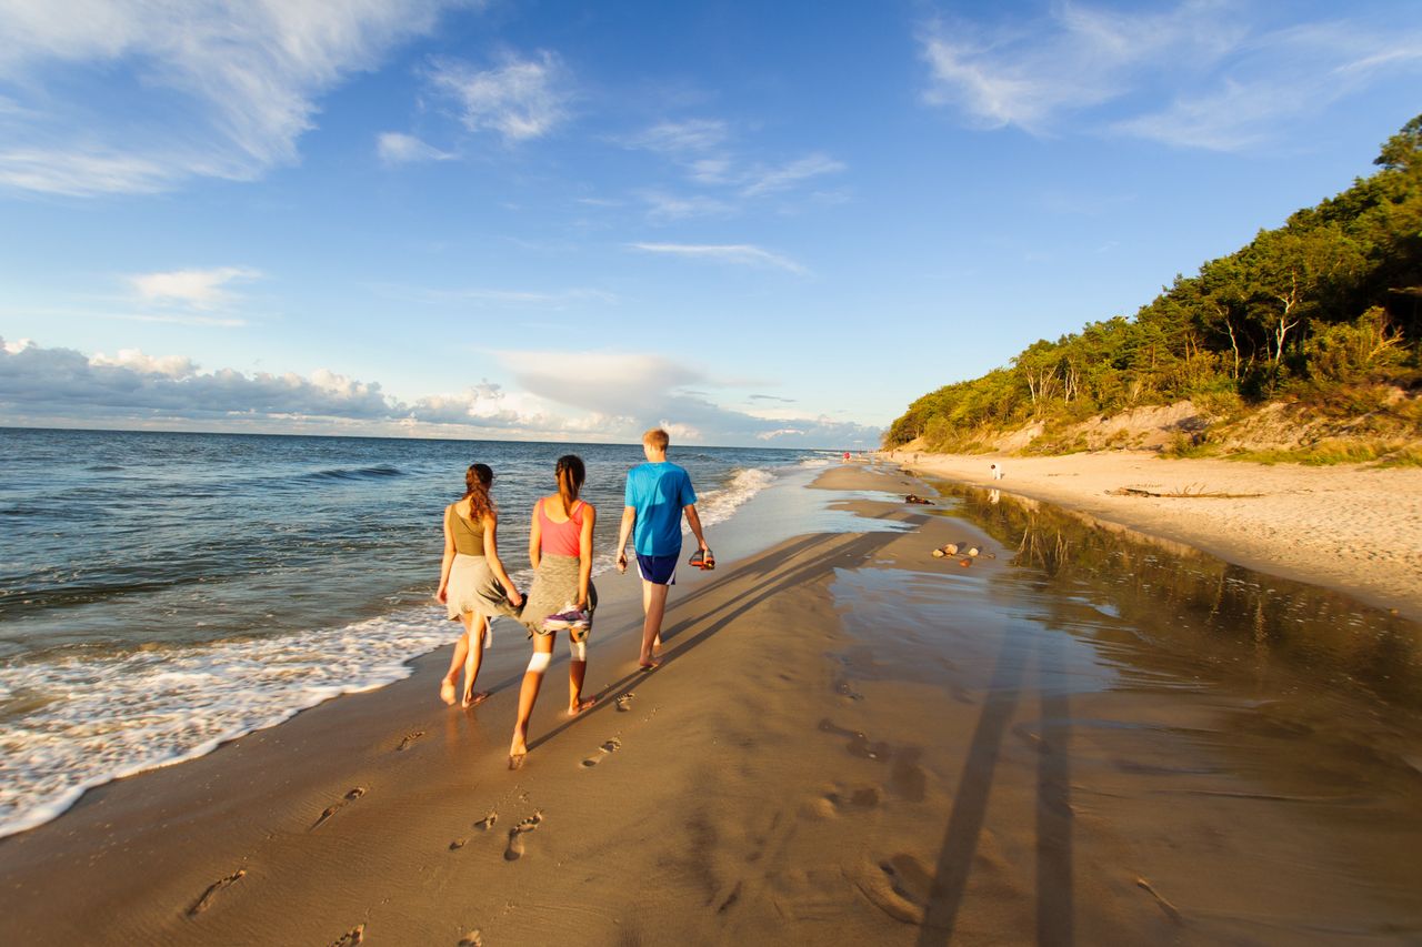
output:
<svg viewBox="0 0 1422 947"><path fill-rule="evenodd" d="M431 68L429 82L458 102L469 131L492 129L510 142L547 135L567 117L572 101L567 70L549 51L529 60L506 54L491 70L441 60Z"/></svg>

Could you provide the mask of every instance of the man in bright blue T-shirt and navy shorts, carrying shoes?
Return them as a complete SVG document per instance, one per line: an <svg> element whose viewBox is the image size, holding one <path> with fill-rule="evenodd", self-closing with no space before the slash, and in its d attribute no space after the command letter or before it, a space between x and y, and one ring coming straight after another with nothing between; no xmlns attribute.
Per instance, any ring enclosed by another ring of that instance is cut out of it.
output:
<svg viewBox="0 0 1422 947"><path fill-rule="evenodd" d="M671 437L661 428L641 435L641 452L647 462L627 471L626 506L617 533L617 572L627 570L627 537L633 536L637 572L641 574L641 610L646 617L637 665L644 671L660 663L656 653L661 650L661 617L667 610L667 592L677 584L683 513L697 537L701 566L715 566L715 556L701 535L691 475L667 461L670 444Z"/></svg>

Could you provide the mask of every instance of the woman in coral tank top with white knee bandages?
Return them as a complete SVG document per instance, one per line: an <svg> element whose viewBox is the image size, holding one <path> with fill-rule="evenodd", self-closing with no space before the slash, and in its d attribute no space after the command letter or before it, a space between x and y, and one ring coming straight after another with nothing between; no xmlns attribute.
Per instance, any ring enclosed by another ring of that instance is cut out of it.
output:
<svg viewBox="0 0 1422 947"><path fill-rule="evenodd" d="M567 454L553 468L557 492L533 503L529 528L529 562L533 587L523 604L523 624L533 638L533 657L519 688L519 718L509 744L509 769L523 765L528 754L529 717L543 687L543 673L553 663L553 637L567 630L572 660L567 664L567 714L582 714L594 701L583 700L587 677L587 636L597 609L593 586L593 526L597 510L577 498L587 478L582 458Z"/></svg>

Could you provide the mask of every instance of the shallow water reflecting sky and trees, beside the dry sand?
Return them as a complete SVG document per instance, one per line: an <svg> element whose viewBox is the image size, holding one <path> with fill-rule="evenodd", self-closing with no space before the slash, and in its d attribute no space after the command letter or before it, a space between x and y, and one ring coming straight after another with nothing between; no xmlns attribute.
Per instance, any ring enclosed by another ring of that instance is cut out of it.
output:
<svg viewBox="0 0 1422 947"><path fill-rule="evenodd" d="M936 843L880 853L870 900L919 944L1422 936L1416 624L997 491L940 492L914 550L833 586L859 641L836 687L865 712L936 687L926 715L961 734L929 788ZM957 569L929 556L944 537L1001 559Z"/></svg>

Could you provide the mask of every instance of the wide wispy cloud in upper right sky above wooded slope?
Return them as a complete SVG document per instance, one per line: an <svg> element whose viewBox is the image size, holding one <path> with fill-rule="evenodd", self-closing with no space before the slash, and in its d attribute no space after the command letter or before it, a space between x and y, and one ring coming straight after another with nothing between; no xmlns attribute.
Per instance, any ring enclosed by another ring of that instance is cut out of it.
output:
<svg viewBox="0 0 1422 947"><path fill-rule="evenodd" d="M987 128L1240 149L1271 138L1278 119L1317 112L1422 63L1415 28L1273 30L1250 20L1260 10L1221 0L1150 11L1062 3L997 28L936 21L920 33L923 101Z"/></svg>

